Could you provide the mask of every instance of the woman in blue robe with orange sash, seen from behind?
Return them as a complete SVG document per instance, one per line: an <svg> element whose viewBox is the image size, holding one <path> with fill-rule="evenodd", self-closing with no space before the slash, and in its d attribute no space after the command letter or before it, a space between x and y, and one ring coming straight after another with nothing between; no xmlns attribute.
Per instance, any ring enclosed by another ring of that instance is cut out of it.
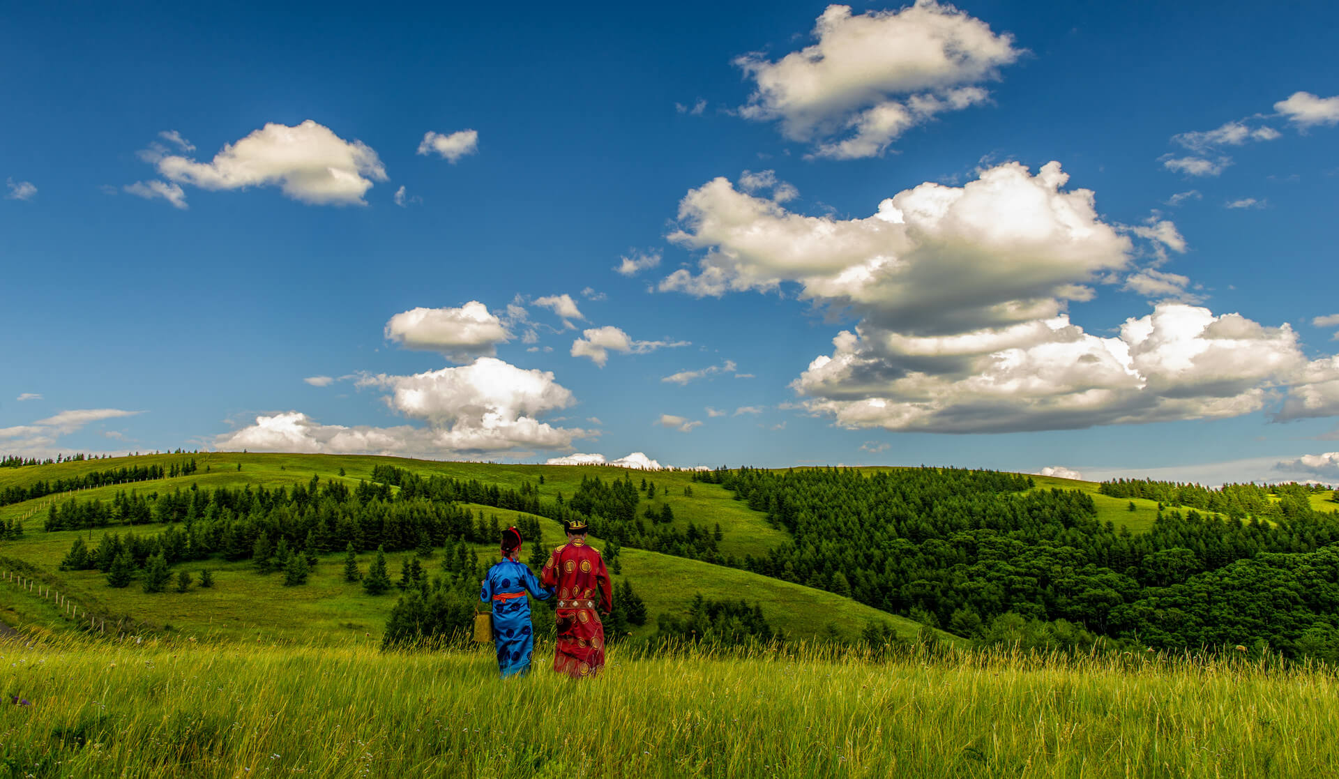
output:
<svg viewBox="0 0 1339 779"><path fill-rule="evenodd" d="M517 559L520 555L521 534L516 527L507 527L502 531L502 561L489 569L479 593L481 601L493 601L493 641L497 644L498 671L503 679L530 671L534 626L530 624L530 601L525 593L541 601L553 594Z"/></svg>

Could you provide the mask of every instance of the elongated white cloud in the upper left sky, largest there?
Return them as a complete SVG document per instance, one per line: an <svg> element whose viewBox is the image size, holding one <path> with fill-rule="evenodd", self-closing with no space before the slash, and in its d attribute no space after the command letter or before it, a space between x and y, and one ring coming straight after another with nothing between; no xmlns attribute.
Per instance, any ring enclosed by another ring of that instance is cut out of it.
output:
<svg viewBox="0 0 1339 779"><path fill-rule="evenodd" d="M344 141L308 119L295 127L269 123L236 143L224 146L212 162L169 154L153 145L141 157L175 185L209 190L279 186L289 198L312 205L367 205L363 195L374 181L386 181L376 151L362 141ZM163 185L162 187L155 185ZM185 207L181 187L165 182L138 182L126 191L162 197Z"/></svg>

